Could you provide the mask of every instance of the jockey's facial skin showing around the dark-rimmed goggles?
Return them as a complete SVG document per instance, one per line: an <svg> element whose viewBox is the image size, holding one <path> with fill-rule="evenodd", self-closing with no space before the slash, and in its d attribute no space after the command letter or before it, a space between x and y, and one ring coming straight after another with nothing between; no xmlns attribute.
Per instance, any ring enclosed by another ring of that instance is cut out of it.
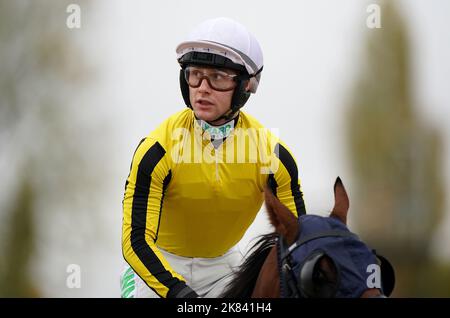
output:
<svg viewBox="0 0 450 318"><path fill-rule="evenodd" d="M204 67L196 68L205 74L208 74L208 72L213 70L211 68ZM229 75L236 75L236 72L232 70L221 71L224 71ZM199 87L193 88L189 86L189 98L196 117L207 122L212 122L218 117L224 115L231 107L233 92L234 89L228 91L215 90L205 79L201 80ZM221 119L213 124L221 125L225 122L225 119Z"/></svg>

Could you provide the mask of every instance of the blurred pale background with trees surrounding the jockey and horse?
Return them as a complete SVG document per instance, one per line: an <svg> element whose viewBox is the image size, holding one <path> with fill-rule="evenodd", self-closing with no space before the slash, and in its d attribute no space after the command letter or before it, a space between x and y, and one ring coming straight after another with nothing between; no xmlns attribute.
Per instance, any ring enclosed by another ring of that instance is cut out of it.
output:
<svg viewBox="0 0 450 318"><path fill-rule="evenodd" d="M244 111L289 145L308 213L327 215L340 176L393 296L449 297L449 15L446 0L0 0L0 296L120 296L131 157L185 107L176 45L227 16L263 48ZM269 231L262 210L241 249Z"/></svg>

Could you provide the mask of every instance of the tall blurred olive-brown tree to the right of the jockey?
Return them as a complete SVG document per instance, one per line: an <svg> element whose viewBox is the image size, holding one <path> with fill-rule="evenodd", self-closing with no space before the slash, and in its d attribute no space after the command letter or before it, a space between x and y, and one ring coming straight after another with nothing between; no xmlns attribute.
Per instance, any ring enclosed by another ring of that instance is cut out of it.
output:
<svg viewBox="0 0 450 318"><path fill-rule="evenodd" d="M442 142L414 107L407 26L394 3L381 8L382 28L367 31L346 116L354 220L394 260L397 295L424 296L430 242L444 210Z"/></svg>

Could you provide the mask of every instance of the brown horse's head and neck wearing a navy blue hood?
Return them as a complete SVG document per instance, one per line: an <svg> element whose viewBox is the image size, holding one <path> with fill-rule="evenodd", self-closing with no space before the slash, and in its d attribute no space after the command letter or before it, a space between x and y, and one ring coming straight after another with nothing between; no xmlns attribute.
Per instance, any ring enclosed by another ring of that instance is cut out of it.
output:
<svg viewBox="0 0 450 318"><path fill-rule="evenodd" d="M297 219L266 189L266 207L276 232L255 244L222 297L389 296L393 268L348 230L349 199L340 178L334 197L329 217Z"/></svg>

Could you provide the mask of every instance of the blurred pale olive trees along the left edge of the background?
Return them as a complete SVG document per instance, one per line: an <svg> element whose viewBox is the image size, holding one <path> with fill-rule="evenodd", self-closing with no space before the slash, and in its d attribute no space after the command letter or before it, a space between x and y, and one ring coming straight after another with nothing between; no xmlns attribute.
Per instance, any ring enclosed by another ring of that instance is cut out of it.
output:
<svg viewBox="0 0 450 318"><path fill-rule="evenodd" d="M76 133L95 130L73 109L91 74L66 27L69 3L0 0L0 297L42 295L33 278L39 233L55 211L69 214L89 196L96 175Z"/></svg>

